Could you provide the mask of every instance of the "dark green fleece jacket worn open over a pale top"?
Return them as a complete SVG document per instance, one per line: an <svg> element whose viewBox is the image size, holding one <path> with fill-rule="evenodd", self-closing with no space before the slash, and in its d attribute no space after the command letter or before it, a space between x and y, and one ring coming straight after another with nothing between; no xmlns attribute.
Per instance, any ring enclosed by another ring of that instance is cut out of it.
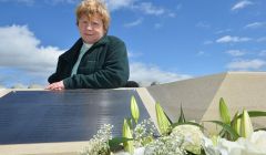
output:
<svg viewBox="0 0 266 155"><path fill-rule="evenodd" d="M76 74L71 76L82 44L82 39L79 39L59 56L57 71L48 79L49 83L63 80L65 89L113 89L125 85L130 75L126 48L123 41L110 35L104 35L86 51Z"/></svg>

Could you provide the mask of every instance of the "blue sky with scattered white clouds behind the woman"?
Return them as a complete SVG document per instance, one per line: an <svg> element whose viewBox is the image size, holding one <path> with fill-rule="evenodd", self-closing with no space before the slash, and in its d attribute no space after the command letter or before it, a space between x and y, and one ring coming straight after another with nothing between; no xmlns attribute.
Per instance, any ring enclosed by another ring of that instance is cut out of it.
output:
<svg viewBox="0 0 266 155"><path fill-rule="evenodd" d="M142 85L266 71L266 0L104 0ZM80 0L0 0L0 85L47 85Z"/></svg>

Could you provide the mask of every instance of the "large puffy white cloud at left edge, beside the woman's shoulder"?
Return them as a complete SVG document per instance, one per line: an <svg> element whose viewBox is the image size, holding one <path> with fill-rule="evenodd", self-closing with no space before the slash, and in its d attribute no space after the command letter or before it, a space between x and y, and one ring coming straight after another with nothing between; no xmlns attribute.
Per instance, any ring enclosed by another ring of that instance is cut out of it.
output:
<svg viewBox="0 0 266 155"><path fill-rule="evenodd" d="M58 56L63 51L40 44L27 25L0 27L0 68L17 70L13 79L23 79L23 75L47 79L54 72ZM0 76L3 74L1 72Z"/></svg>

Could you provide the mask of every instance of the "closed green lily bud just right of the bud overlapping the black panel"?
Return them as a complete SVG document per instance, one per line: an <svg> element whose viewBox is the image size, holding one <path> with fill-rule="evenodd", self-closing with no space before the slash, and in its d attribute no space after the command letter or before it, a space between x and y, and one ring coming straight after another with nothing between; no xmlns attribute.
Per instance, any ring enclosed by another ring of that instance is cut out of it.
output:
<svg viewBox="0 0 266 155"><path fill-rule="evenodd" d="M155 104L155 110L156 110L156 116L157 116L157 124L158 124L158 128L160 128L160 133L162 135L167 135L170 133L171 130L171 123L168 121L168 118L166 117L162 106L160 105L160 103Z"/></svg>

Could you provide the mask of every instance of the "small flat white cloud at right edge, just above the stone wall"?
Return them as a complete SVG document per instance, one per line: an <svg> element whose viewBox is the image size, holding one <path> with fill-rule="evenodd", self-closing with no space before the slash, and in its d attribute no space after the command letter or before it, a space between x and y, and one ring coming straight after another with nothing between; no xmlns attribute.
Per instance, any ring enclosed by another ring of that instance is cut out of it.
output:
<svg viewBox="0 0 266 155"><path fill-rule="evenodd" d="M264 60L254 59L254 60L235 60L231 62L226 68L229 70L236 71L250 71L259 70L265 66L266 62Z"/></svg>

